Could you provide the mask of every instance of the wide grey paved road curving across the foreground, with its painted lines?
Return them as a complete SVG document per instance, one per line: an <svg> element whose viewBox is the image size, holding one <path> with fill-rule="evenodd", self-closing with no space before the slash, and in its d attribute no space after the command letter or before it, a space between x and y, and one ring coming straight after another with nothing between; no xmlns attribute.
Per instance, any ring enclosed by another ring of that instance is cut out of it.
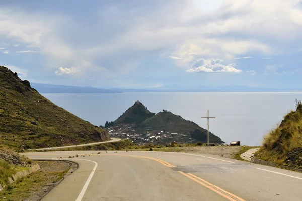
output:
<svg viewBox="0 0 302 201"><path fill-rule="evenodd" d="M48 200L302 200L302 173L213 155L151 151L24 153L79 168ZM79 157L68 158L69 156Z"/></svg>

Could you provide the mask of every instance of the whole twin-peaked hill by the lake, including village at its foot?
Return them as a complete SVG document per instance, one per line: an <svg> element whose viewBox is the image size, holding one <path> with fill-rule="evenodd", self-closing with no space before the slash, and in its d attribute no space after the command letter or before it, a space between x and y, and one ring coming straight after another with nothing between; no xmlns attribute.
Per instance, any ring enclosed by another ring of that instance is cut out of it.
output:
<svg viewBox="0 0 302 201"><path fill-rule="evenodd" d="M157 114L152 113L139 101L115 120L113 125L109 128L110 132L116 133L118 137L131 138L137 143L165 144L172 140L207 142L207 130L196 123L166 110ZM223 143L211 132L209 139L211 143Z"/></svg>

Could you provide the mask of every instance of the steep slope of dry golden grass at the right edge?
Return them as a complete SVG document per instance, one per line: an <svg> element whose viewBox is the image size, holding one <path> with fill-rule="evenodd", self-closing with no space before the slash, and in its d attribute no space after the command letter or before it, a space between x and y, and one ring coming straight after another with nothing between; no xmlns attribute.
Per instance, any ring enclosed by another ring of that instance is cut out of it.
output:
<svg viewBox="0 0 302 201"><path fill-rule="evenodd" d="M296 100L296 110L284 116L281 124L267 134L257 158L302 168L302 103Z"/></svg>

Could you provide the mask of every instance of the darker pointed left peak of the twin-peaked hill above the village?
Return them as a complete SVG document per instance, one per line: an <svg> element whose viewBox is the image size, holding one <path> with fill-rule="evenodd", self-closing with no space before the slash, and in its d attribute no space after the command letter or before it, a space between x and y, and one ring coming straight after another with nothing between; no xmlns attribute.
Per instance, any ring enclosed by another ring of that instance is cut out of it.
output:
<svg viewBox="0 0 302 201"><path fill-rule="evenodd" d="M155 113L150 112L139 101L135 102L133 106L128 108L119 118L114 121L114 124L129 124L141 123L149 117L154 116Z"/></svg>

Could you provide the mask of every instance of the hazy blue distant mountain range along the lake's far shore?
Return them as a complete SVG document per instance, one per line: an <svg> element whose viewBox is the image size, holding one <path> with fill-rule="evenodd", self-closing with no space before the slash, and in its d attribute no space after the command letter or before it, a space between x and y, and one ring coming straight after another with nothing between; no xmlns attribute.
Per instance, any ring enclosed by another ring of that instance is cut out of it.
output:
<svg viewBox="0 0 302 201"><path fill-rule="evenodd" d="M179 86L163 86L149 89L131 89L131 88L110 88L101 89L93 87L65 86L53 84L31 83L39 93L134 93L134 92L282 92L282 91L302 91L302 89L274 89L249 86L200 86L184 88Z"/></svg>

